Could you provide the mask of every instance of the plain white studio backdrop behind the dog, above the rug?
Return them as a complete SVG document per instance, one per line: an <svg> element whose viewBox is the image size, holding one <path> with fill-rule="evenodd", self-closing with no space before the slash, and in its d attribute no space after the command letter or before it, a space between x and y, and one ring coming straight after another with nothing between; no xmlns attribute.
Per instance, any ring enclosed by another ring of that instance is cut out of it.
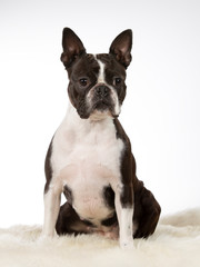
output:
<svg viewBox="0 0 200 267"><path fill-rule="evenodd" d="M68 102L63 27L89 52L133 30L120 120L138 177L163 215L199 206L200 2L1 0L0 227L42 224L43 160Z"/></svg>

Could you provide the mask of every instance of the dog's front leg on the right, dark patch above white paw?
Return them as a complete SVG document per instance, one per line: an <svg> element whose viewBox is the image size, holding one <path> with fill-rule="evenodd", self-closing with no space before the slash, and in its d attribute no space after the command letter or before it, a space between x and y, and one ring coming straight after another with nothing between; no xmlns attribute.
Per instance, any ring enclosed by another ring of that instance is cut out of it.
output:
<svg viewBox="0 0 200 267"><path fill-rule="evenodd" d="M123 249L133 247L133 192L129 186L117 186L116 210L119 222L119 241ZM124 197L126 196L126 197Z"/></svg>

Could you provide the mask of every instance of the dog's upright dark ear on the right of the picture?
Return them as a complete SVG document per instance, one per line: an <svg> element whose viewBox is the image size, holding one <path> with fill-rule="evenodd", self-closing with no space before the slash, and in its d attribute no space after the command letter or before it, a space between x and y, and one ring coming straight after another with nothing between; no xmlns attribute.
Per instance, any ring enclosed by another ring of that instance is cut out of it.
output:
<svg viewBox="0 0 200 267"><path fill-rule="evenodd" d="M123 65L126 68L131 62L131 48L132 48L132 31L122 31L110 46L110 53L112 53L116 59Z"/></svg>

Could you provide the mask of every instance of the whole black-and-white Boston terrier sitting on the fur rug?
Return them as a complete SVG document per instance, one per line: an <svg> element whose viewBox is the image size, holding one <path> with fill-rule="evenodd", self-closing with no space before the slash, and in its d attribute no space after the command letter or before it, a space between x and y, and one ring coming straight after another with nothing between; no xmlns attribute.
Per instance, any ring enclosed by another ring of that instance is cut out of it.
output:
<svg viewBox="0 0 200 267"><path fill-rule="evenodd" d="M69 28L62 36L69 78L66 118L46 158L43 236L101 234L121 248L153 234L160 206L136 176L131 144L118 120L126 97L132 31L109 53L87 53ZM60 207L61 194L67 202Z"/></svg>

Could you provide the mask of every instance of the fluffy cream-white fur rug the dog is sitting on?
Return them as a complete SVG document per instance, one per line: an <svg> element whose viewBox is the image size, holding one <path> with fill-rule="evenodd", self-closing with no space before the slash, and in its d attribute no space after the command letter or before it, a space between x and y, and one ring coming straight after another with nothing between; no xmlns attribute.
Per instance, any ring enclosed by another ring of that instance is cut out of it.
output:
<svg viewBox="0 0 200 267"><path fill-rule="evenodd" d="M40 226L0 229L1 267L199 267L200 208L161 219L148 240L121 250L103 237L56 237L39 240Z"/></svg>

